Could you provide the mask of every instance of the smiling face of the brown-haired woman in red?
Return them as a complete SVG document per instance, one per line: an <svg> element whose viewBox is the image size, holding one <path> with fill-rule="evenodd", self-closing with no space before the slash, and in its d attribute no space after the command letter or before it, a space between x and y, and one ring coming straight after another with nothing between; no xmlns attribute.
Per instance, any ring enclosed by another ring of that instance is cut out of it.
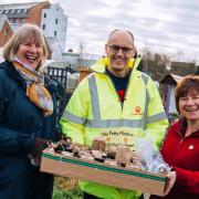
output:
<svg viewBox="0 0 199 199"><path fill-rule="evenodd" d="M188 121L199 121L199 93L195 90L179 98L179 112Z"/></svg>

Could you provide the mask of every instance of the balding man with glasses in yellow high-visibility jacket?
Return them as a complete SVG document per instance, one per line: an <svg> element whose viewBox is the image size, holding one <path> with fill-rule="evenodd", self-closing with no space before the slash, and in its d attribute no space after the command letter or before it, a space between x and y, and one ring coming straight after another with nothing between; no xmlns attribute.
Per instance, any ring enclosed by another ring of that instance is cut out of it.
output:
<svg viewBox="0 0 199 199"><path fill-rule="evenodd" d="M107 145L123 144L136 151L136 139L148 137L154 147L165 136L168 121L153 80L137 71L140 57L134 56L134 36L113 31L105 45L107 57L92 65L72 95L63 114L63 132L73 142L92 145L104 137ZM84 198L132 199L140 192L94 182L80 182Z"/></svg>

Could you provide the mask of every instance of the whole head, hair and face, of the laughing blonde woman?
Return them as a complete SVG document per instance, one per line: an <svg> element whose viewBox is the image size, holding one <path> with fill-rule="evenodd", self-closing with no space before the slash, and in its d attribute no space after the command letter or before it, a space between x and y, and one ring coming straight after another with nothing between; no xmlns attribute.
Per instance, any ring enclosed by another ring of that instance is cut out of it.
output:
<svg viewBox="0 0 199 199"><path fill-rule="evenodd" d="M18 28L3 49L6 60L17 56L22 63L42 71L48 57L45 38L38 25L25 23Z"/></svg>

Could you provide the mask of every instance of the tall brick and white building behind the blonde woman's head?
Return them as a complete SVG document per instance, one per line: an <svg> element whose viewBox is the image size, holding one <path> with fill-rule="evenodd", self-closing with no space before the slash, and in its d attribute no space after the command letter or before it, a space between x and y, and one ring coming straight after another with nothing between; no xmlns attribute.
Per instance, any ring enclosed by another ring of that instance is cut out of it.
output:
<svg viewBox="0 0 199 199"><path fill-rule="evenodd" d="M66 41L67 17L59 3L42 1L0 4L0 14L7 15L13 30L23 23L38 24L50 41L54 52L52 59L61 57Z"/></svg>

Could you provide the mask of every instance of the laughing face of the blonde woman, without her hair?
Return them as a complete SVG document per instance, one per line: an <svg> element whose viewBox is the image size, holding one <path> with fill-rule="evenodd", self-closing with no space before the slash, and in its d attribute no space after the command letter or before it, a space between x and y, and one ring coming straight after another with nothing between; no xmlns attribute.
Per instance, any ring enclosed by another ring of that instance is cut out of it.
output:
<svg viewBox="0 0 199 199"><path fill-rule="evenodd" d="M31 41L22 42L15 53L17 57L24 64L38 69L43 55L41 44L38 44L34 39Z"/></svg>

